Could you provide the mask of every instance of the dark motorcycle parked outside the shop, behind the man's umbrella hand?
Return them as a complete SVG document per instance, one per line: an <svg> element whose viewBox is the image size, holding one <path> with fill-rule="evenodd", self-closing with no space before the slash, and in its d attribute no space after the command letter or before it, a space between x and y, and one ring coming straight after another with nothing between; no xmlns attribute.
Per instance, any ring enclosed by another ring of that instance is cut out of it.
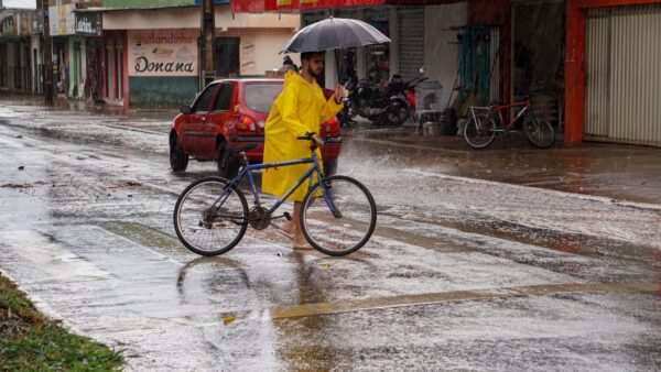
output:
<svg viewBox="0 0 661 372"><path fill-rule="evenodd" d="M422 72L424 69L421 68ZM345 108L338 118L343 124L360 116L376 127L402 125L414 116L415 86L426 79L418 77L404 83L401 75L393 75L383 89L367 79L356 84L349 81L345 86L349 95L345 98Z"/></svg>

